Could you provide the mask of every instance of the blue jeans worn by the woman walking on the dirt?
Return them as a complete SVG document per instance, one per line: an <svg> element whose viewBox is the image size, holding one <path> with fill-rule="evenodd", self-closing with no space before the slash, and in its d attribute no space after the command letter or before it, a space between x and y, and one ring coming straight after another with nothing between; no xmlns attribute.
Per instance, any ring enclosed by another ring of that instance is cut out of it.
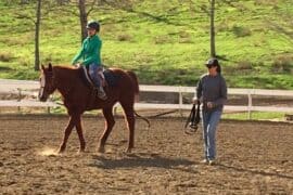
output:
<svg viewBox="0 0 293 195"><path fill-rule="evenodd" d="M204 155L207 160L216 158L216 129L221 113L221 110L202 112Z"/></svg>

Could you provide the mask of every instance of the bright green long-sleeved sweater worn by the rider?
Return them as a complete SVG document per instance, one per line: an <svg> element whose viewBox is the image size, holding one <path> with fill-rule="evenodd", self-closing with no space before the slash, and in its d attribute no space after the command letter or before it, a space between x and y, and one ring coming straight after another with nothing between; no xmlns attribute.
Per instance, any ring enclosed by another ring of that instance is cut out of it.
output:
<svg viewBox="0 0 293 195"><path fill-rule="evenodd" d="M102 41L98 35L87 37L82 42L80 51L73 58L72 64L76 64L82 57L82 65L85 66L89 66L92 63L100 65L101 48Z"/></svg>

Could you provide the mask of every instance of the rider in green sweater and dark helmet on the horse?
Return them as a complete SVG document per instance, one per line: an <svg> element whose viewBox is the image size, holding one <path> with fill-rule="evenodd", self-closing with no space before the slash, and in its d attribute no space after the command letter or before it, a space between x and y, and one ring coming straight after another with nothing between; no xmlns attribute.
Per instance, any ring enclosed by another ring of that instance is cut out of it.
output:
<svg viewBox="0 0 293 195"><path fill-rule="evenodd" d="M97 35L100 31L100 24L97 21L90 21L87 24L88 37L84 40L80 51L75 55L72 64L75 65L82 57L82 62L79 65L89 67L89 75L93 80L95 88L98 90L98 96L102 100L106 100L106 94L101 84L99 76L102 72L101 63L101 48L102 40Z"/></svg>

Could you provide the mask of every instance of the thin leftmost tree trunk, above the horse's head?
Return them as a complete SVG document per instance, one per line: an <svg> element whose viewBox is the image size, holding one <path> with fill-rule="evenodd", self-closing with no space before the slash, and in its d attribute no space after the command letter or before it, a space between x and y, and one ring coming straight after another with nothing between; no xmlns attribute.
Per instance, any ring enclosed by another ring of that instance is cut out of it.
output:
<svg viewBox="0 0 293 195"><path fill-rule="evenodd" d="M39 52L39 32L40 32L40 17L41 17L41 0L37 1L37 13L36 13L36 29L35 29L35 70L40 69L40 52Z"/></svg>

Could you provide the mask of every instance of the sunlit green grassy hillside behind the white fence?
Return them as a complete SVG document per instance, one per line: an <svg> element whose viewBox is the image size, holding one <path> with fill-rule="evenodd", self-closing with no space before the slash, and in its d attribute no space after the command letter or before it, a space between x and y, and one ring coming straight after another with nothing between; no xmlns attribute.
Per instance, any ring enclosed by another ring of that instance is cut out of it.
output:
<svg viewBox="0 0 293 195"><path fill-rule="evenodd" d="M293 89L292 0L219 1L216 51L229 87ZM34 5L35 6L35 5ZM31 5L0 2L0 78L37 79ZM131 11L100 8L102 58L133 69L141 83L194 86L209 56L206 0L145 0ZM74 10L75 8L73 8ZM80 47L79 18L55 10L41 24L41 62L69 64Z"/></svg>

